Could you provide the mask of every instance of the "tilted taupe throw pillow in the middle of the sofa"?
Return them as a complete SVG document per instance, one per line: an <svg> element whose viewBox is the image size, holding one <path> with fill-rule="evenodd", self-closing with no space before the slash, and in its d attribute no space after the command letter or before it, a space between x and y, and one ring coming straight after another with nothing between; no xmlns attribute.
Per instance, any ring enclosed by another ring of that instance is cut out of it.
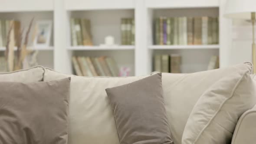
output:
<svg viewBox="0 0 256 144"><path fill-rule="evenodd" d="M120 144L172 144L161 73L107 88Z"/></svg>

